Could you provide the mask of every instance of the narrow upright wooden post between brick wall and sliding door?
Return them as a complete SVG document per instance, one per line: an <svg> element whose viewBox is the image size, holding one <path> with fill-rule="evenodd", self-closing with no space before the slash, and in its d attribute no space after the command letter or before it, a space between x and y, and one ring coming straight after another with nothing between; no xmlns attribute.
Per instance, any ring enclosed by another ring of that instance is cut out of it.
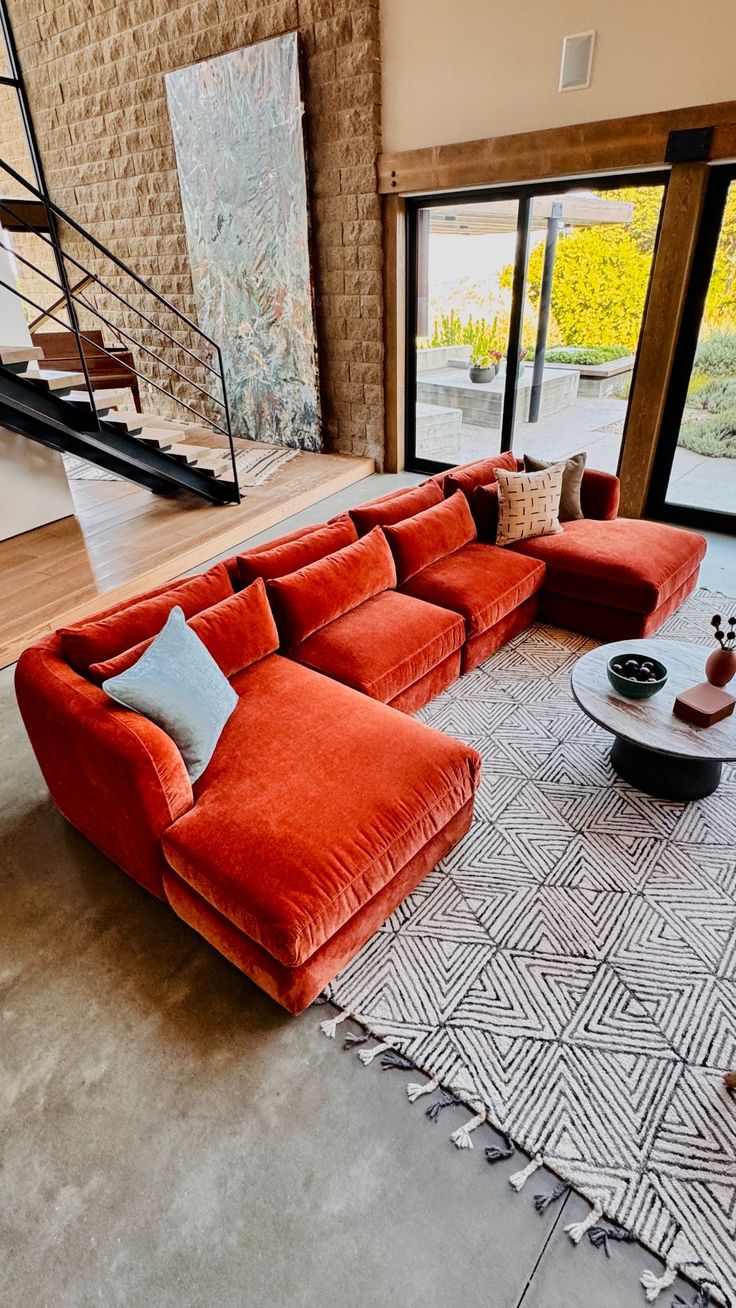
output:
<svg viewBox="0 0 736 1308"><path fill-rule="evenodd" d="M386 404L386 472L404 467L404 375L407 340L405 204L399 195L383 200L383 388Z"/></svg>

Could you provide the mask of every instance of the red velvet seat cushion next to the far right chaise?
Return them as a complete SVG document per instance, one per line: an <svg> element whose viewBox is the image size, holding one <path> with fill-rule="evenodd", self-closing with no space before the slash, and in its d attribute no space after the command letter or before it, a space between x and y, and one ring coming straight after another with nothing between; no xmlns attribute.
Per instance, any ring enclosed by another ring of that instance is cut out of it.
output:
<svg viewBox="0 0 736 1308"><path fill-rule="evenodd" d="M544 564L537 560L472 542L410 577L401 590L460 613L472 638L529 599L543 581Z"/></svg>

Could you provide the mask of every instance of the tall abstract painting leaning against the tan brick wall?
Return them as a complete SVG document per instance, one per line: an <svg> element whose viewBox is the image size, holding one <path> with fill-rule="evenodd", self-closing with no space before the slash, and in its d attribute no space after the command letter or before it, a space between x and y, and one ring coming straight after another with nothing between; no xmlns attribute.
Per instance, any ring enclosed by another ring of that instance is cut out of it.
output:
<svg viewBox="0 0 736 1308"><path fill-rule="evenodd" d="M200 327L235 436L320 450L295 33L166 75Z"/></svg>

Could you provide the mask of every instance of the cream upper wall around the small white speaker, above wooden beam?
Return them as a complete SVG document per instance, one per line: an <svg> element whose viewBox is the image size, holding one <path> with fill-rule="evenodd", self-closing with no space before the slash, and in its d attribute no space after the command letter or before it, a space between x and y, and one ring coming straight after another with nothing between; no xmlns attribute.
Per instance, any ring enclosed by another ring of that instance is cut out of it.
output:
<svg viewBox="0 0 736 1308"><path fill-rule="evenodd" d="M380 0L383 149L736 99L736 0ZM560 94L562 37L597 31Z"/></svg>

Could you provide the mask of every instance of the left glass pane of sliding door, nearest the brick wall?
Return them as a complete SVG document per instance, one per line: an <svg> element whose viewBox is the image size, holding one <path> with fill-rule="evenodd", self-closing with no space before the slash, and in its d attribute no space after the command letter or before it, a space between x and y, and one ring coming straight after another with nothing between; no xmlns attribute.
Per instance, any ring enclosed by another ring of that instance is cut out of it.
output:
<svg viewBox="0 0 736 1308"><path fill-rule="evenodd" d="M509 199L417 213L418 459L498 454L518 212Z"/></svg>

